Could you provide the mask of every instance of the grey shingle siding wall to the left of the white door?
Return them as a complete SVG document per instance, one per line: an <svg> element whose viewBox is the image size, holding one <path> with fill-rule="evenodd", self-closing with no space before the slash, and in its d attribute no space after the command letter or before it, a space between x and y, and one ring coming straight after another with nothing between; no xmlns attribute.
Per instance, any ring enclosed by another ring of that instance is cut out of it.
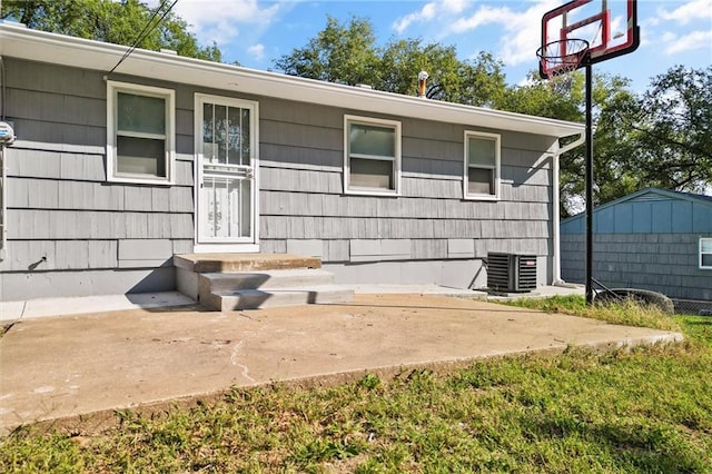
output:
<svg viewBox="0 0 712 474"><path fill-rule="evenodd" d="M6 152L1 298L172 289L171 257L192 248L192 92L176 111L175 186L113 184L103 73L3 61L17 142Z"/></svg>

